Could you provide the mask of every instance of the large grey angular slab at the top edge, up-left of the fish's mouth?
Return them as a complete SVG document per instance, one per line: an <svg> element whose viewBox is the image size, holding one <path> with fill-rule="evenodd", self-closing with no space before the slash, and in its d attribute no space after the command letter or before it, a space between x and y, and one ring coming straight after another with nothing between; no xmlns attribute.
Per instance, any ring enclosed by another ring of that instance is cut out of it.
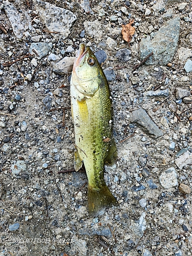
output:
<svg viewBox="0 0 192 256"><path fill-rule="evenodd" d="M33 2L36 7L36 12L45 23L49 31L58 32L52 33L56 38L65 39L71 33L71 27L77 19L76 15L71 11L43 2L35 0Z"/></svg>

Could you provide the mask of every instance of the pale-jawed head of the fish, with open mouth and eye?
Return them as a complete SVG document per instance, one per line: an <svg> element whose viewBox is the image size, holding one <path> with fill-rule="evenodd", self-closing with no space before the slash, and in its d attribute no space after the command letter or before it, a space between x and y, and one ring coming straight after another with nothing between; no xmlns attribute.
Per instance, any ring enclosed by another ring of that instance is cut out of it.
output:
<svg viewBox="0 0 192 256"><path fill-rule="evenodd" d="M84 44L79 46L73 65L71 82L86 98L91 98L99 89L103 72L91 49Z"/></svg>

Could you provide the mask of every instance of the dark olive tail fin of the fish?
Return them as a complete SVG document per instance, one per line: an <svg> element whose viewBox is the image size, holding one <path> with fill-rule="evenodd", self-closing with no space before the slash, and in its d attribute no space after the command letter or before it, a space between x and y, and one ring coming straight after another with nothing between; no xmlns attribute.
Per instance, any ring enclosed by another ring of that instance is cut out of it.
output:
<svg viewBox="0 0 192 256"><path fill-rule="evenodd" d="M101 188L95 188L88 185L88 204L89 215L94 217L100 209L117 205L117 200L111 194L111 191L106 184Z"/></svg>

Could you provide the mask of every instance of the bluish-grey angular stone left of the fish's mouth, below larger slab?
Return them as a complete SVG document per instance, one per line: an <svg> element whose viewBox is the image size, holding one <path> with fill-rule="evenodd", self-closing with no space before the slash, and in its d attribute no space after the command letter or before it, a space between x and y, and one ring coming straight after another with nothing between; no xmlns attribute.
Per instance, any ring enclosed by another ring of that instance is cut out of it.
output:
<svg viewBox="0 0 192 256"><path fill-rule="evenodd" d="M32 42L29 53L35 55L37 59L41 59L47 56L51 51L52 43L46 44L46 42Z"/></svg>

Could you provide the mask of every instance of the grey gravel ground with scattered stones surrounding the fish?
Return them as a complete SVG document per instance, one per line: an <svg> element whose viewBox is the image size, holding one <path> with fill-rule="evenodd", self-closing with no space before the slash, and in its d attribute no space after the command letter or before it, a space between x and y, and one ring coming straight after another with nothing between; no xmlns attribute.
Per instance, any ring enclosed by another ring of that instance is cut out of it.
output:
<svg viewBox="0 0 192 256"><path fill-rule="evenodd" d="M191 255L190 1L0 3L0 255ZM118 148L104 177L119 206L96 218L84 170L59 173L73 169L81 42L110 81Z"/></svg>

